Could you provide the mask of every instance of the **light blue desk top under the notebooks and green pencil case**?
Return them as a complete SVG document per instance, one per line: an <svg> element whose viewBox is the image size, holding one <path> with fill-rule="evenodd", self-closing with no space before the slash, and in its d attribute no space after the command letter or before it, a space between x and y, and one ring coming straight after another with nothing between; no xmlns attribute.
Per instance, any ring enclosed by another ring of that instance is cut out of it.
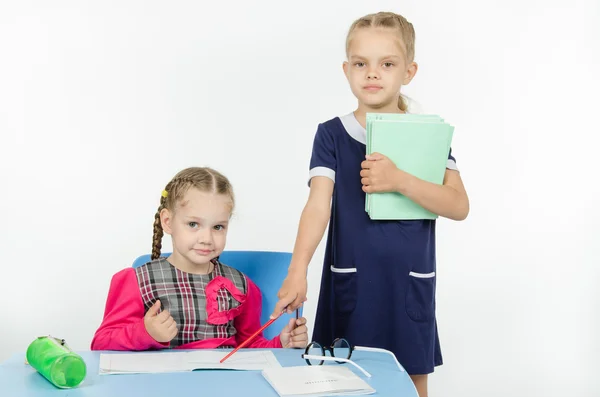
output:
<svg viewBox="0 0 600 397"><path fill-rule="evenodd" d="M274 349L282 366L307 365L298 349ZM33 368L24 363L25 355L17 354L0 364L0 396L6 397L278 397L259 371L202 370L168 374L98 375L100 352L80 353L88 373L75 389L57 389ZM406 372L400 372L387 354L355 351L352 360L362 366L371 378L365 378L350 364L347 365L365 379L377 396L417 397Z"/></svg>

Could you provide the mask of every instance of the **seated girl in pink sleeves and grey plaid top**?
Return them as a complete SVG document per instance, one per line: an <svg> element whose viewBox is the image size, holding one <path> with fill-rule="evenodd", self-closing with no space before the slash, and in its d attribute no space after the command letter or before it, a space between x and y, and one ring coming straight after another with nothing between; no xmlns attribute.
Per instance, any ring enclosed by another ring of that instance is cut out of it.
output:
<svg viewBox="0 0 600 397"><path fill-rule="evenodd" d="M179 172L162 193L154 221L152 261L112 278L92 350L236 347L260 327L261 292L240 271L219 262L234 197L210 168ZM160 256L163 231L173 253ZM248 347L305 347L306 320L292 319L279 337Z"/></svg>

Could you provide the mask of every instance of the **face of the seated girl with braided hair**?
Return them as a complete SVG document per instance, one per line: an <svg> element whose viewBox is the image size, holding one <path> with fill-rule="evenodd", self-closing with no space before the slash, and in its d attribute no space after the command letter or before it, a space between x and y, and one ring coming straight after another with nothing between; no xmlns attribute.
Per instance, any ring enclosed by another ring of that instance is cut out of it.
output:
<svg viewBox="0 0 600 397"><path fill-rule="evenodd" d="M174 212L162 210L163 230L173 240L173 261L179 262L174 264L204 270L225 249L230 216L228 196L195 188L186 192Z"/></svg>

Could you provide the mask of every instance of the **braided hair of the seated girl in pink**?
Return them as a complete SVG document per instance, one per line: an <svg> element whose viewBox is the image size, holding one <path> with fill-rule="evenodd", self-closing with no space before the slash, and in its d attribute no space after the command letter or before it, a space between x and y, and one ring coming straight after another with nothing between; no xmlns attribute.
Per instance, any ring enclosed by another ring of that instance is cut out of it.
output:
<svg viewBox="0 0 600 397"><path fill-rule="evenodd" d="M179 203L183 196L190 188L195 188L201 192L210 192L215 194L223 194L231 198L231 210L234 206L233 188L229 180L219 173L208 167L191 167L178 172L163 191L160 198L160 206L154 216L154 235L152 237L152 260L160 257L162 248L163 229L160 221L160 212L163 209L168 209L174 212L175 206Z"/></svg>

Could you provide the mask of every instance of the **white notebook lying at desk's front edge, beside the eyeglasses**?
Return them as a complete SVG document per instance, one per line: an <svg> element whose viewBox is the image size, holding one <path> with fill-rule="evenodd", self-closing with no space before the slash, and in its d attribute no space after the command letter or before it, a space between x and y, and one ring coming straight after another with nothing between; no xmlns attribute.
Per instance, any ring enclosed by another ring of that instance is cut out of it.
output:
<svg viewBox="0 0 600 397"><path fill-rule="evenodd" d="M269 368L262 371L262 374L280 397L359 396L375 393L375 389L347 366Z"/></svg>

